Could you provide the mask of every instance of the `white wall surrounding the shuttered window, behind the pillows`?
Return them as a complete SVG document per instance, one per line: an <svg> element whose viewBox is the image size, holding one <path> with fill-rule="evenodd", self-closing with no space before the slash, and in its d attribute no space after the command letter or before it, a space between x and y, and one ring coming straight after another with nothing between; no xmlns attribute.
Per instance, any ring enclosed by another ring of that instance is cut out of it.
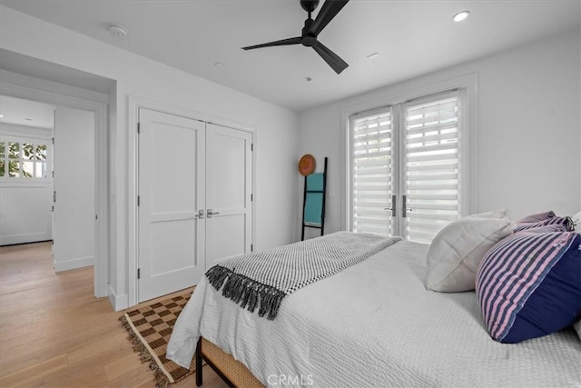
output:
<svg viewBox="0 0 581 388"><path fill-rule="evenodd" d="M297 157L330 157L328 233L344 229L341 110L470 74L478 75L476 211L508 208L517 219L581 210L580 44L578 31L556 36L301 113Z"/></svg>

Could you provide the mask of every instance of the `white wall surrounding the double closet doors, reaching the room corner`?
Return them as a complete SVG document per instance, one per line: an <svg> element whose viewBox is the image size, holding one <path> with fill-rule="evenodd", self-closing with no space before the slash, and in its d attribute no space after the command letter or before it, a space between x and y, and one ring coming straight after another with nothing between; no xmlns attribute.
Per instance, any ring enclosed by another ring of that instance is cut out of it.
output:
<svg viewBox="0 0 581 388"><path fill-rule="evenodd" d="M280 106L133 55L0 5L0 47L113 79L116 104L111 130L110 288L115 307L128 293L130 174L127 158L130 96L179 107L216 122L252 127L256 133L256 249L293 240L297 229L296 154L298 115Z"/></svg>

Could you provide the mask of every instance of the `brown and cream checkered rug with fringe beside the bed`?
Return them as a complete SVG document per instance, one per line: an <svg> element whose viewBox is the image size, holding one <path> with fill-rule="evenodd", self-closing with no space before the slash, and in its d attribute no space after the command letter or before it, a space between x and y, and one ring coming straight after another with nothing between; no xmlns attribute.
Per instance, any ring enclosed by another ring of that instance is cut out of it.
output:
<svg viewBox="0 0 581 388"><path fill-rule="evenodd" d="M127 330L127 339L142 363L149 363L155 375L155 386L165 387L177 383L195 372L195 359L190 369L165 358L167 343L172 335L173 324L192 293L173 296L150 305L142 306L119 317Z"/></svg>

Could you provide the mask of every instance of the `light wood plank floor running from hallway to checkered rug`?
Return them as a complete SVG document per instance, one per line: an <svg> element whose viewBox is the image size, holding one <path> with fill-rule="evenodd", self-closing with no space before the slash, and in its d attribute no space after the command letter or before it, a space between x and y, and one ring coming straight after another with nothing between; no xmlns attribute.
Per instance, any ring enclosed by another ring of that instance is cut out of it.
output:
<svg viewBox="0 0 581 388"><path fill-rule="evenodd" d="M54 274L50 243L0 247L1 387L154 387L93 267ZM151 303L151 302L149 302ZM204 387L226 384L209 366ZM191 375L171 387L195 387Z"/></svg>

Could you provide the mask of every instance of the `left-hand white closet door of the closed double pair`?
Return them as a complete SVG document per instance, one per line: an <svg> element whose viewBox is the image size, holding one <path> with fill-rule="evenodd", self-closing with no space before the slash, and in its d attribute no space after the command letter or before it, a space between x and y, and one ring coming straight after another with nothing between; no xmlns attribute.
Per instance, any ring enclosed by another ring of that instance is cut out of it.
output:
<svg viewBox="0 0 581 388"><path fill-rule="evenodd" d="M139 301L204 273L205 124L139 110Z"/></svg>

